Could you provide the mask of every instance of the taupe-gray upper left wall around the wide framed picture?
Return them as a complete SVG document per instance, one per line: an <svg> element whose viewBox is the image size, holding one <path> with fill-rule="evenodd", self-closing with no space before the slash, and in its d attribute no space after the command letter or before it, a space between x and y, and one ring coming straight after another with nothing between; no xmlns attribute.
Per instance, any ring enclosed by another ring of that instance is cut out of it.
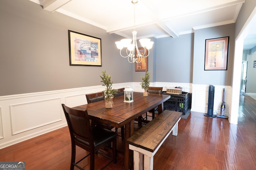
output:
<svg viewBox="0 0 256 170"><path fill-rule="evenodd" d="M0 23L0 96L101 85L101 70L114 83L133 81L116 34L29 0L1 0ZM69 65L68 29L102 39L102 67Z"/></svg>

